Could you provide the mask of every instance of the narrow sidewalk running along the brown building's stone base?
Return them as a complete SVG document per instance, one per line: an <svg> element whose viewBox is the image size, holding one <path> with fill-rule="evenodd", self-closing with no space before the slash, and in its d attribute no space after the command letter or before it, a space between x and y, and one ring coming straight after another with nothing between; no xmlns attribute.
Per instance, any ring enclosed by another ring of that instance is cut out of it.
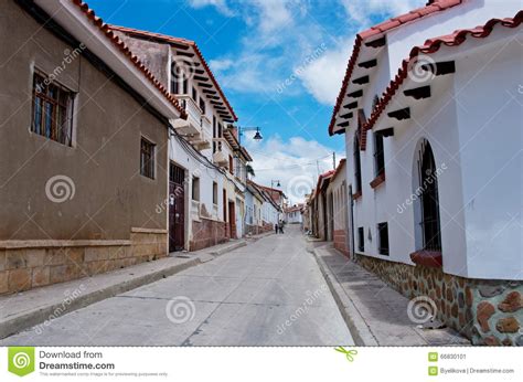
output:
<svg viewBox="0 0 523 382"><path fill-rule="evenodd" d="M0 339L73 310L174 275L247 245L245 240L195 252L175 252L154 262L0 296Z"/></svg>

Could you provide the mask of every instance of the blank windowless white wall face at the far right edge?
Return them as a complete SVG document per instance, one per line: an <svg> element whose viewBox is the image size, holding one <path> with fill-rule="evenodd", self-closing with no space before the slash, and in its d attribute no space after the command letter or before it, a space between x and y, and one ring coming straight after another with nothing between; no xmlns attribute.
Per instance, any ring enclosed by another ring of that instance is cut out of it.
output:
<svg viewBox="0 0 523 382"><path fill-rule="evenodd" d="M523 279L523 72L513 36L494 30L455 75L468 274L479 278Z"/></svg>

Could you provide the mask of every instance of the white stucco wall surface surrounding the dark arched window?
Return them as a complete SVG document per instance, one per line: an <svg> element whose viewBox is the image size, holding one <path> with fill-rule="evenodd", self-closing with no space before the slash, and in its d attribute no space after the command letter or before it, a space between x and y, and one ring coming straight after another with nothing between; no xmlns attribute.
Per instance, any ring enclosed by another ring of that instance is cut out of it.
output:
<svg viewBox="0 0 523 382"><path fill-rule="evenodd" d="M394 137L384 139L386 181L375 190L369 184L374 178L374 138L367 132L366 150L361 151L363 197L354 206L355 229L365 227L366 255L412 264L408 255L419 248L413 174L417 145L425 138L437 168L442 168L438 189L444 270L522 279L523 74L521 46L513 35L513 30L499 28L489 40L472 38L459 47L442 47L433 57L455 60L456 74L435 78L433 96L425 100L406 99L398 92L387 110L410 106L412 118L394 123ZM382 117L374 128L391 124ZM348 129L345 137L350 182L354 131ZM377 254L376 224L382 221L388 222L387 257Z"/></svg>

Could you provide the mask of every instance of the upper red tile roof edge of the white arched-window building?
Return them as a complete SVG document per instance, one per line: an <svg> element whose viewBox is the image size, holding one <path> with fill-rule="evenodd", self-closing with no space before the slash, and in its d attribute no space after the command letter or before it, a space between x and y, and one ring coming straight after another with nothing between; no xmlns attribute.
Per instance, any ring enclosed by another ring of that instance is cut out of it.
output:
<svg viewBox="0 0 523 382"><path fill-rule="evenodd" d="M354 71L354 65L356 64L356 61L360 56L360 51L362 49L362 42L363 40L369 40L374 36L382 35L383 33L401 26L403 24L406 24L410 21L421 19L428 14L444 11L446 9L449 9L451 7L458 6L462 2L462 0L434 0L429 1L427 6L415 9L408 13L392 18L387 21L384 21L377 25L371 26L366 31L360 32L356 34L356 39L354 41L354 47L352 50L352 55L349 60L349 64L346 65L345 70L345 77L343 78L342 85L340 93L338 95L334 109L332 112L332 117L331 117L331 123L329 125L329 135L334 134L334 124L335 124L335 116L338 112L340 110L341 104L345 97L346 88L349 86L349 82L352 76L352 72Z"/></svg>

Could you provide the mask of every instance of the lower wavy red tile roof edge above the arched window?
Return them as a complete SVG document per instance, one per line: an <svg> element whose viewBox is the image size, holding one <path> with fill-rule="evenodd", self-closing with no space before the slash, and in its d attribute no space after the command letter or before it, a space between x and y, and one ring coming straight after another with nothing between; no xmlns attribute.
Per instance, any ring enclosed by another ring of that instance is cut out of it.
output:
<svg viewBox="0 0 523 382"><path fill-rule="evenodd" d="M468 36L472 36L476 39L484 39L492 33L492 30L497 24L500 24L505 28L517 28L522 22L523 11L519 11L512 19L491 19L484 25L476 26L473 29L457 30L451 34L429 39L421 46L413 47L409 57L403 61L398 73L396 74L394 79L391 81L391 84L387 86L382 97L380 98L380 102L377 103L371 117L365 124L364 129L370 130L373 128L374 124L380 118L381 114L386 108L392 97L396 94L397 89L407 77L408 71L409 68L412 68L410 63L416 56L418 56L419 54L433 54L437 52L441 47L441 45L459 46L467 40Z"/></svg>

